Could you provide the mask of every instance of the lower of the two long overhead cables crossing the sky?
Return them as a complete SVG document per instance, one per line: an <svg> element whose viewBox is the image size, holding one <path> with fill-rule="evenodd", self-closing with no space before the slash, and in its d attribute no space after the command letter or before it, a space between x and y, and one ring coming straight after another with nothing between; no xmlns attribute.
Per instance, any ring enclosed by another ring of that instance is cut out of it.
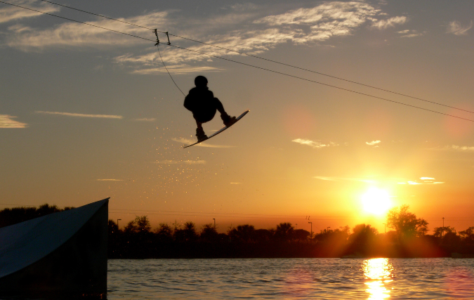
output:
<svg viewBox="0 0 474 300"><path fill-rule="evenodd" d="M11 6L16 6L16 7L19 7L19 8L25 8L29 11L35 11L37 13L44 13L42 11L37 11L33 8L26 8L24 6L19 6L19 5L16 5L16 4L11 4L11 3L8 3L8 2L5 2L5 1L1 1L0 0L0 3L3 3L3 4L8 4L8 5L11 5ZM68 6L67 6L68 7ZM125 33L125 32L119 32L117 30L111 30L109 28L106 28L106 27L101 27L101 26L98 26L98 25L93 25L93 24L90 24L90 23L87 23L87 22L81 22L81 21L77 21L77 20L74 20L74 19L70 19L70 18L65 18L65 17L61 17L60 15L54 15L52 13L44 13L45 15L51 15L53 17L57 17L57 18L62 18L62 19L65 19L65 20L70 20L72 22L77 22L77 23L80 23L80 24L84 24L84 25L89 25L89 26L93 26L93 27L98 27L100 29L103 29L103 30L109 30L111 32L116 32L116 33L119 33L119 34L124 34L124 35L127 35L129 37L136 37L138 39L144 39L146 41L154 41L156 42L155 40L153 39L147 39L145 37L138 37L136 35L133 35L133 34L128 34L128 33ZM258 67L256 65L250 65L248 63L242 63L242 62L239 62L237 60L231 60L229 58L223 58L223 57L220 57L220 56L214 56L212 54L208 54L208 53L203 53L203 52L200 52L200 51L196 51L196 50L192 50L190 48L183 48L183 47L180 47L180 46L174 46L174 45L171 45L171 44L165 44L167 46L171 46L171 47L174 47L174 48L180 48L180 49L183 49L185 51L192 51L192 52L195 52L195 53L199 53L199 54L202 54L204 56L210 56L210 57L213 57L213 58L219 58L221 60L227 60L227 61L230 61L232 63L238 63L238 64L241 64L241 65L246 65L248 67L255 67L256 69L259 69L259 70L265 70L265 71L268 71L268 72L273 72L273 73L276 73L276 74L281 74L281 75L284 75L284 76L287 76L287 77L292 77L292 78L296 78L296 79L301 79L301 80L305 80L305 81L309 81L309 82L312 82L312 83L315 83L315 84L322 84L324 86L329 86L329 87L332 87L332 88L335 88L335 89L340 89L342 91L349 91L349 92L352 92L352 93L357 93L357 94L360 94L360 95L363 95L363 96L368 96L368 97L371 97L371 98L377 98L377 99L380 99L380 100L386 100L388 102L392 102L392 103L397 103L397 104L400 104L400 105L405 105L405 106L408 106L408 107L413 107L413 108L418 108L419 110L426 110L428 112L435 112L437 114L440 114L440 115L445 115L445 116L448 116L448 117L454 117L456 119L463 119L463 120L466 120L466 121L469 121L469 122L474 122L473 119L466 119L466 118L463 118L463 117L457 117L455 115L449 115L447 113L444 113L444 112L437 112L436 110L428 110L427 108L423 108L423 107L419 107L419 106L416 106L416 105L410 105L410 104L407 104L407 103L402 103L402 102L398 102L398 101L395 101L395 100L390 100L390 99L387 99L387 98L382 98L382 97L378 97L378 96L373 96L373 95L370 95L368 93L362 93L362 92L359 92L359 91L353 91L353 90L350 90L350 89L345 89L345 88L341 88L339 86L334 86L334 85L331 85L331 84L324 84L320 81L315 81L315 80L312 80L312 79L306 79L306 78L303 78L303 77L298 77L298 76L295 76L295 75L291 75L291 74L287 74L287 73L284 73L284 72L278 72L278 71L275 71L275 70L270 70L270 69L266 69L264 67ZM170 75L171 76L171 75ZM175 83L176 84L176 83ZM178 88L179 89L179 88ZM183 91L181 91L181 93L183 93ZM438 103L437 103L438 104ZM456 108L456 107L452 107L452 108ZM457 108L456 108L457 109Z"/></svg>

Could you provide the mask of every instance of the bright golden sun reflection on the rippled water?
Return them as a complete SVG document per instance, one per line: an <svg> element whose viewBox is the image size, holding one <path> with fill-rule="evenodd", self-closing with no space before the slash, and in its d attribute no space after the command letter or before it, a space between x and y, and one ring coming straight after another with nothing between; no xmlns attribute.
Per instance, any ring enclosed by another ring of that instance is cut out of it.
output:
<svg viewBox="0 0 474 300"><path fill-rule="evenodd" d="M388 259L367 259L362 262L362 270L369 292L368 299L387 299L390 297L390 289L386 283L392 282L393 266Z"/></svg>

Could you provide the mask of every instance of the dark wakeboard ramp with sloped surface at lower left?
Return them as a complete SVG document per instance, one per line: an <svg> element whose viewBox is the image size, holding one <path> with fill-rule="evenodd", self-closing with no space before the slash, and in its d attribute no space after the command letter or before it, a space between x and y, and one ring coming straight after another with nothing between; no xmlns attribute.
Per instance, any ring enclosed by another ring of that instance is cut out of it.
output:
<svg viewBox="0 0 474 300"><path fill-rule="evenodd" d="M0 295L106 293L108 202L0 228Z"/></svg>

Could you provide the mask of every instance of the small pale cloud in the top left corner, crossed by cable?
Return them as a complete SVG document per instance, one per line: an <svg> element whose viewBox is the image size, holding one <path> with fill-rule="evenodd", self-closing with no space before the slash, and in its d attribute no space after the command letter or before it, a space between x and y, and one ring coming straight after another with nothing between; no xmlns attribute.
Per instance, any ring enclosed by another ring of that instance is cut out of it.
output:
<svg viewBox="0 0 474 300"><path fill-rule="evenodd" d="M60 10L58 6L53 6L52 4L47 4L46 2L37 3L37 1L30 0L9 0L11 4L18 6L25 6L27 8L32 8L37 11L43 11L44 13L55 13ZM6 4L1 4L0 8L0 23L11 22L13 20L21 20L25 18L33 18L39 15L44 15L43 13L37 13L36 11L29 11L25 8L20 8L17 6L9 6Z"/></svg>

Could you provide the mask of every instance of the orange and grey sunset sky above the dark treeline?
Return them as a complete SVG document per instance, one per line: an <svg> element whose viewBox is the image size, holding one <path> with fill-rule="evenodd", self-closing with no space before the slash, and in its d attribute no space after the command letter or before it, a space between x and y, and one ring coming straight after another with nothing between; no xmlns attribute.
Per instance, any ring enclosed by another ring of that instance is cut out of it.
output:
<svg viewBox="0 0 474 300"><path fill-rule="evenodd" d="M196 124L151 30L2 1L96 27L0 3L0 209L111 197L120 226L383 233L362 204L378 189L431 230L474 226L474 1L58 0L211 55L159 46L183 93L202 74L230 115L250 110L186 149Z"/></svg>

